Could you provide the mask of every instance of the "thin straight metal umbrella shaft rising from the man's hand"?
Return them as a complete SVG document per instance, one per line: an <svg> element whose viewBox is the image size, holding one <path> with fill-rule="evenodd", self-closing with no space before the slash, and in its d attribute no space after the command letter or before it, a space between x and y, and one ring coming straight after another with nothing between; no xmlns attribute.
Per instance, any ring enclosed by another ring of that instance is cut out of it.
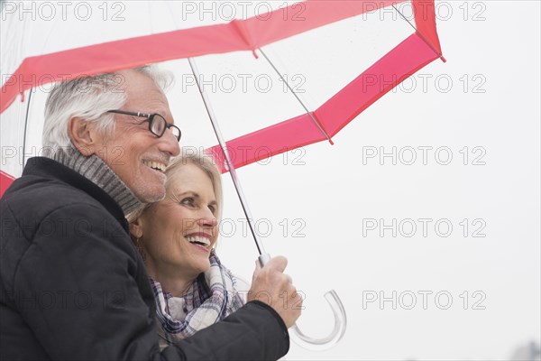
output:
<svg viewBox="0 0 541 361"><path fill-rule="evenodd" d="M252 232L253 240L255 241L255 245L257 246L257 250L259 254L263 255L266 252L263 248L263 245L261 244L261 240L256 235L254 227L252 225L252 221L253 221L252 214L250 212L250 209L248 208L248 203L244 197L243 189L241 187L241 182L237 177L236 170L234 168L234 162L231 161L231 158L229 157L229 152L227 152L227 144L225 143L224 137L222 136L222 132L220 131L220 127L218 126L218 122L217 122L214 110L212 109L212 106L210 105L210 100L208 99L208 97L206 97L205 89L200 84L199 71L197 71L196 62L192 58L188 58L188 63L192 70L192 73L194 74L194 77L196 78L197 88L199 88L199 93L201 94L201 97L203 98L203 103L205 104L205 107L206 107L206 114L208 115L210 119L210 123L212 124L212 127L214 128L216 138L218 139L218 143L220 143L220 148L222 148L222 152L224 153L225 164L229 170L231 179L233 180L234 189L237 192L237 196L239 197L239 200L241 201L241 206L243 207L244 216L246 217L246 220L248 221L248 226L250 227L250 231Z"/></svg>

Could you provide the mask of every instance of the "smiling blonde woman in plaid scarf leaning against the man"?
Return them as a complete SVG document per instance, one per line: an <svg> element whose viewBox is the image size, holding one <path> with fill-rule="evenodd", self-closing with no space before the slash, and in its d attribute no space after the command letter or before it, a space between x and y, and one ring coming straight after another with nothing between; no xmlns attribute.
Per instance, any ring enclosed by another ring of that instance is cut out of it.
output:
<svg viewBox="0 0 541 361"><path fill-rule="evenodd" d="M159 334L169 344L224 319L243 306L243 299L233 274L215 255L222 212L215 164L205 157L183 156L165 173L165 199L128 220L151 277Z"/></svg>

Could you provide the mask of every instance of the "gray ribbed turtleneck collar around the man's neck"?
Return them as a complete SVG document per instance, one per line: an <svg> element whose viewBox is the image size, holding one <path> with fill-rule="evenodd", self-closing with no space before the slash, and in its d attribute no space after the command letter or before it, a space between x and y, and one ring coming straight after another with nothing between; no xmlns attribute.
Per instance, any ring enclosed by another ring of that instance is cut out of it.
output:
<svg viewBox="0 0 541 361"><path fill-rule="evenodd" d="M86 157L77 149L59 148L50 158L77 171L104 190L112 199L115 199L124 211L124 215L142 207L142 202L135 197L132 190L96 155Z"/></svg>

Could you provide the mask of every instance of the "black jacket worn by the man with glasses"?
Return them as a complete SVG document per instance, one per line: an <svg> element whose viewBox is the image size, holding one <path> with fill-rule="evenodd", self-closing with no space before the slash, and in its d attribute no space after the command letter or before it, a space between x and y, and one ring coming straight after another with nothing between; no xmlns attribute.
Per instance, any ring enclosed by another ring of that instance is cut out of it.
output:
<svg viewBox="0 0 541 361"><path fill-rule="evenodd" d="M0 199L0 360L257 360L289 349L280 316L243 309L160 352L155 303L122 209L90 180L28 161Z"/></svg>

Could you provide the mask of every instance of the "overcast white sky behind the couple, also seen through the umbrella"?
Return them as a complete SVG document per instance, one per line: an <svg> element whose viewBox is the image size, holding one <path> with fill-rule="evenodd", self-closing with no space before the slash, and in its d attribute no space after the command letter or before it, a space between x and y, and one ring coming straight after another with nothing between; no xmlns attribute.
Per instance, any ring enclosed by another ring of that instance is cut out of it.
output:
<svg viewBox="0 0 541 361"><path fill-rule="evenodd" d="M9 46L24 53L39 43L48 52L91 43L96 33L113 36L109 26L115 37L148 32L144 19L151 32L173 21L180 28L199 23L200 14L186 7L173 18L134 4L109 3L105 21L103 8L94 7L88 21L95 34L55 35L70 21L82 23L69 9L66 21L40 22L36 5L36 21L11 23L9 33L3 18L2 81L17 63ZM539 343L540 3L436 1L436 9L446 63L436 60L381 98L335 136L334 146L310 145L238 171L267 251L289 257L289 273L306 293L299 326L314 336L330 331L323 299L329 289L347 311L338 345L320 352L292 345L287 359L502 360L521 344ZM124 21L113 23L120 10ZM213 11L229 20L216 5L204 22ZM269 47L312 107L412 32L391 12L371 15ZM23 29L23 41L13 45ZM39 36L47 40L34 41ZM197 62L227 139L301 113L252 54ZM186 62L163 67L176 72L169 97L183 145L213 145L196 88L182 75ZM40 146L43 99L38 93L32 103L29 146ZM23 109L15 105L1 118L3 149L18 146L17 107ZM16 172L4 159L2 169ZM228 175L224 180L219 253L250 279L256 249Z"/></svg>

